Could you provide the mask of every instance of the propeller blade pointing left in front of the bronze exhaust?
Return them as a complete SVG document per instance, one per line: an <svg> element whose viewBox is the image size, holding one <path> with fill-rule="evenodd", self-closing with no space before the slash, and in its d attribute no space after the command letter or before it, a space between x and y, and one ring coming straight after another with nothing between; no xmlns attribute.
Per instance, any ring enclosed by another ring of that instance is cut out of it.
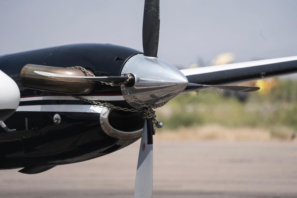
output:
<svg viewBox="0 0 297 198"><path fill-rule="evenodd" d="M88 80L100 81L100 82L107 82L107 83L118 83L123 82L128 79L127 76L79 76L79 75L66 75L66 74L57 74L52 72L45 72L45 71L34 71L39 75L44 75L48 77L60 77L60 78L83 78Z"/></svg>

